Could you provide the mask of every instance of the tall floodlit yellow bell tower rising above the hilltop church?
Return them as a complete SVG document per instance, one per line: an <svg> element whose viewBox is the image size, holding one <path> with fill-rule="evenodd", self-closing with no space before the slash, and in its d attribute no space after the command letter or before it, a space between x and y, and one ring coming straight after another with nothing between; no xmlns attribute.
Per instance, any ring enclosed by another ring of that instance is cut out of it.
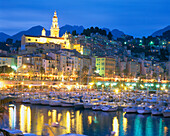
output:
<svg viewBox="0 0 170 136"><path fill-rule="evenodd" d="M54 16L52 19L52 26L51 26L51 37L59 37L59 26L58 26L58 17L56 11L54 12Z"/></svg>

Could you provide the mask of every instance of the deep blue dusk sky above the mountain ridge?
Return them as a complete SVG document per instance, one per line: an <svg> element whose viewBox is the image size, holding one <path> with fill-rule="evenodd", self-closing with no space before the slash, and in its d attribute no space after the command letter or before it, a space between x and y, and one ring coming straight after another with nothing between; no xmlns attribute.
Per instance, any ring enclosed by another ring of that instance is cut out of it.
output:
<svg viewBox="0 0 170 136"><path fill-rule="evenodd" d="M65 24L119 29L148 36L170 25L170 0L0 0L0 32L15 34L35 25L50 29L53 12Z"/></svg>

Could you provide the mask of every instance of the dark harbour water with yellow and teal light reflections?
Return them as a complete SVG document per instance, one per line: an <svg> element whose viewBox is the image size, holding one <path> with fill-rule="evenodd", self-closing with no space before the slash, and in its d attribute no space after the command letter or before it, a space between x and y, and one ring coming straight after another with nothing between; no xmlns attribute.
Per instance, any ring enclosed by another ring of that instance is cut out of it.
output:
<svg viewBox="0 0 170 136"><path fill-rule="evenodd" d="M53 122L60 128L48 129ZM9 107L0 128L16 128L23 132L42 134L46 128L50 136L79 133L88 136L170 136L170 118L162 116L126 114L122 111L102 112L74 108L15 104ZM52 131L51 131L52 130Z"/></svg>

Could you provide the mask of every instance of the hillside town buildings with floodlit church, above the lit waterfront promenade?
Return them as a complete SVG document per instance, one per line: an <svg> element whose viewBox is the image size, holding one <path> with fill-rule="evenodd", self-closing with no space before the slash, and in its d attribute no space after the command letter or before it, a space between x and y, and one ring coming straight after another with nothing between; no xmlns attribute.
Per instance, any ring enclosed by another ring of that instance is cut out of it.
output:
<svg viewBox="0 0 170 136"><path fill-rule="evenodd" d="M18 54L0 56L0 66L8 65L19 73L102 77L141 77L168 79L169 62L156 62L131 55L120 42L92 34L59 37L58 17L52 19L51 34L23 35ZM23 67L25 66L25 67Z"/></svg>

